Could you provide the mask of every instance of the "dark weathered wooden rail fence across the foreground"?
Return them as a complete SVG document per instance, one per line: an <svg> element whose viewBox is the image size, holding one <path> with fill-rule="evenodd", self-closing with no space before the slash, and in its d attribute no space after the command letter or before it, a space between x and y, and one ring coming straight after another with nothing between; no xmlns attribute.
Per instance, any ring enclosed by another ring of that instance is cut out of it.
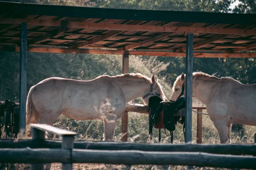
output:
<svg viewBox="0 0 256 170"><path fill-rule="evenodd" d="M256 167L255 144L74 142L75 132L50 125L31 126L31 140L0 141L0 162L29 163L33 170L41 170L44 163L53 162L61 162L63 170L71 170L73 163L172 164L248 169ZM63 136L62 141L45 140L45 131Z"/></svg>

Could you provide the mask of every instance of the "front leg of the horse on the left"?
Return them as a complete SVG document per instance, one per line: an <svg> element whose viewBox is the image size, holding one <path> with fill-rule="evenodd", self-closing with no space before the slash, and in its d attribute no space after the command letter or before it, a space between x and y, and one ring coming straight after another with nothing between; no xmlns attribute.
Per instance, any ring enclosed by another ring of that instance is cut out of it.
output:
<svg viewBox="0 0 256 170"><path fill-rule="evenodd" d="M105 141L113 141L117 120L118 119L103 120L103 122L104 122L104 140Z"/></svg>

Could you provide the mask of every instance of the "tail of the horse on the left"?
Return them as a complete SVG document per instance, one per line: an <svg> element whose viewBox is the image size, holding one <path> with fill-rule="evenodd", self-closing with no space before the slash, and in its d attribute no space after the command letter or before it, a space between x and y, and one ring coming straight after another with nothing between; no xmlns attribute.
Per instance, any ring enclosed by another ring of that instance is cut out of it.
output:
<svg viewBox="0 0 256 170"><path fill-rule="evenodd" d="M29 123L37 123L40 119L38 111L36 111L35 106L32 101L32 94L35 91L36 86L32 86L29 90L29 94L26 101L26 125Z"/></svg>

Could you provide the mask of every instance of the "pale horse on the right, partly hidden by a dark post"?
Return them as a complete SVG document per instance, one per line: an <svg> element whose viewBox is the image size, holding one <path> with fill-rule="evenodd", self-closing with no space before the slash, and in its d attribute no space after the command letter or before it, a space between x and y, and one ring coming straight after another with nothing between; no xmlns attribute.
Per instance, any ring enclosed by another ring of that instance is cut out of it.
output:
<svg viewBox="0 0 256 170"><path fill-rule="evenodd" d="M185 76L182 73L177 77L171 100L177 100L181 94ZM207 106L207 113L218 130L221 143L231 142L233 123L256 126L256 84L244 85L230 77L217 78L195 72L193 97Z"/></svg>

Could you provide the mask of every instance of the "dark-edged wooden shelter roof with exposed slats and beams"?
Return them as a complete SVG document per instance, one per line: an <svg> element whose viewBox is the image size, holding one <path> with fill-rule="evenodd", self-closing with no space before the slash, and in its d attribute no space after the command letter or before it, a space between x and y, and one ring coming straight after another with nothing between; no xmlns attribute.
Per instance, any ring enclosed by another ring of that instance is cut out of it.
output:
<svg viewBox="0 0 256 170"><path fill-rule="evenodd" d="M20 23L28 24L28 51L256 57L256 14L150 11L0 2L0 49L19 51Z"/></svg>

